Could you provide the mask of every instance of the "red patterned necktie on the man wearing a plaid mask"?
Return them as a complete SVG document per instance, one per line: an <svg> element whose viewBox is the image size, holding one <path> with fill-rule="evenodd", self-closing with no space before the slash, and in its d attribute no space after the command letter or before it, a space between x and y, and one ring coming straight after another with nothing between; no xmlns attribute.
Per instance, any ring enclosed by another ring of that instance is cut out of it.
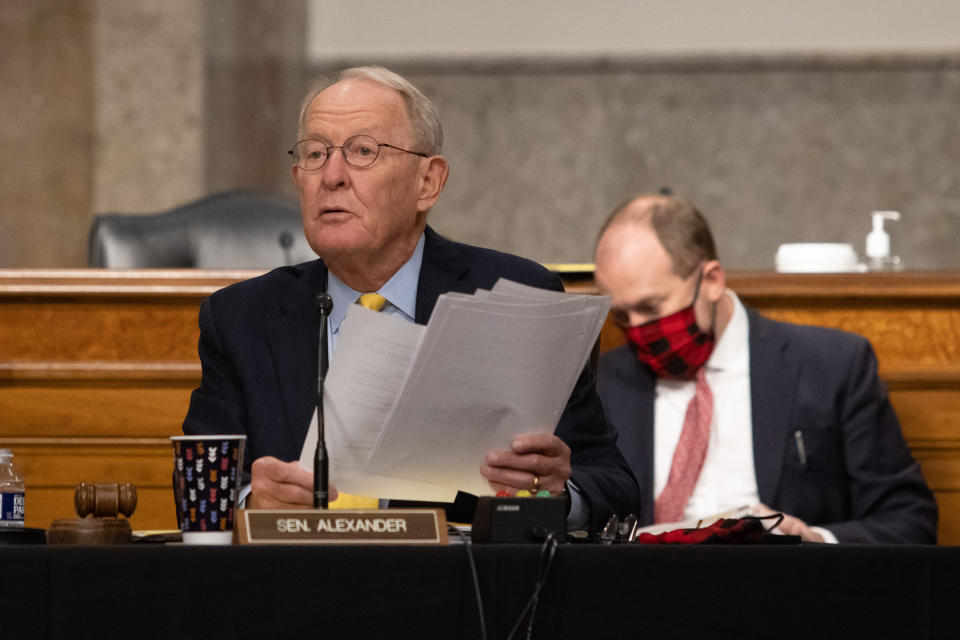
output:
<svg viewBox="0 0 960 640"><path fill-rule="evenodd" d="M697 389L687 405L680 440L673 452L670 476L653 506L654 522L683 520L687 501L697 486L710 444L710 422L713 419L713 393L707 384L706 367L697 370Z"/></svg>

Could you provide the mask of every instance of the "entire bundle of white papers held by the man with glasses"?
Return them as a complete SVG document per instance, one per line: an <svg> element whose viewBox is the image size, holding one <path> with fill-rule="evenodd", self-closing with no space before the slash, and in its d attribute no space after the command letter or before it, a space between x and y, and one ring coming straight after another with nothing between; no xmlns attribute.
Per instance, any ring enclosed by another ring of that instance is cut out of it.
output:
<svg viewBox="0 0 960 640"><path fill-rule="evenodd" d="M427 326L353 305L324 388L330 483L405 500L490 493L486 452L553 432L609 306L508 280L440 296ZM314 414L311 470L316 441Z"/></svg>

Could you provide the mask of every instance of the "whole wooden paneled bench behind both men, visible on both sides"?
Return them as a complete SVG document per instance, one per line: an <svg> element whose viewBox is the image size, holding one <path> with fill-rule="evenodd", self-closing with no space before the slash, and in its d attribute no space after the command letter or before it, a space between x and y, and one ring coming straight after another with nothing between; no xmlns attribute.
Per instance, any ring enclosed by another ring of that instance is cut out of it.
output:
<svg viewBox="0 0 960 640"><path fill-rule="evenodd" d="M26 478L29 526L72 517L81 480L129 480L132 526L176 527L167 438L200 379L200 301L254 275L0 270L0 447ZM729 284L772 318L871 340L940 505L940 541L960 544L960 273L733 272ZM603 348L620 343L605 327Z"/></svg>

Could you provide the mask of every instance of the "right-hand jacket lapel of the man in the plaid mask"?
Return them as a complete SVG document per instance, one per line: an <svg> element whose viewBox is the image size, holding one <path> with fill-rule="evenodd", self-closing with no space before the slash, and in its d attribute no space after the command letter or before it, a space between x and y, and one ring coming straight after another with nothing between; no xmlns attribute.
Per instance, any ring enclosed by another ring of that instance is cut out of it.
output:
<svg viewBox="0 0 960 640"><path fill-rule="evenodd" d="M752 309L748 317L753 464L760 500L772 504L783 469L784 443L790 435L800 362L773 322Z"/></svg>

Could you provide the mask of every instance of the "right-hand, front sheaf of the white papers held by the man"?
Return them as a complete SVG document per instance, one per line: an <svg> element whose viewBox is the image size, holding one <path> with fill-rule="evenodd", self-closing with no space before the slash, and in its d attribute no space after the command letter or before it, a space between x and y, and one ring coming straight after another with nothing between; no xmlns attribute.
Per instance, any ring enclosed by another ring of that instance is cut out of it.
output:
<svg viewBox="0 0 960 640"><path fill-rule="evenodd" d="M368 469L490 493L486 451L556 428L596 337L597 308L459 297L437 301ZM555 299L566 298L555 293Z"/></svg>

